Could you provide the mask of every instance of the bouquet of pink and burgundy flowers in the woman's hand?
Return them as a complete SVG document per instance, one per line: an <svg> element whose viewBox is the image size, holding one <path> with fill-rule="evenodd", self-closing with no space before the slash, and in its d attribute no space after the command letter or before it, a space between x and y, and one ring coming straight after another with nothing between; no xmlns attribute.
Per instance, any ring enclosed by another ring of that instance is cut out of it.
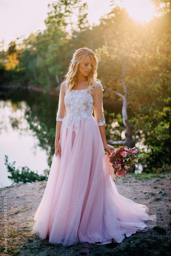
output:
<svg viewBox="0 0 171 256"><path fill-rule="evenodd" d="M111 150L111 154L109 155L109 162L112 164L113 172L110 171L111 176L115 179L114 170L116 170L116 175L118 176L125 176L125 173L130 175L128 173L128 169L131 165L135 165L135 163L138 162L138 159L140 157L135 156L135 154L138 152L136 147L133 147L132 149L127 146L123 147L120 146L115 150ZM109 153L108 153L109 154ZM111 169L111 168L110 168Z"/></svg>

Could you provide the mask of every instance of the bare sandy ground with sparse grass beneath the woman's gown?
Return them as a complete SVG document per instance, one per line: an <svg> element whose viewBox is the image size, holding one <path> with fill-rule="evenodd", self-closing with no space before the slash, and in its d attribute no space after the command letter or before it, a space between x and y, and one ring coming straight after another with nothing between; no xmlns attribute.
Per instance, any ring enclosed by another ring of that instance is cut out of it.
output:
<svg viewBox="0 0 171 256"><path fill-rule="evenodd" d="M121 195L146 205L149 208L149 215L156 214L158 228L132 234L119 244L93 246L89 243L77 243L66 248L54 246L48 242L48 239L40 240L32 232L35 223L33 217L45 191L47 180L1 188L0 255L171 255L169 253L171 251L170 182L171 174L145 179L133 176L126 177L126 179L118 177L115 182ZM5 242L4 197L8 199L8 252L3 251Z"/></svg>

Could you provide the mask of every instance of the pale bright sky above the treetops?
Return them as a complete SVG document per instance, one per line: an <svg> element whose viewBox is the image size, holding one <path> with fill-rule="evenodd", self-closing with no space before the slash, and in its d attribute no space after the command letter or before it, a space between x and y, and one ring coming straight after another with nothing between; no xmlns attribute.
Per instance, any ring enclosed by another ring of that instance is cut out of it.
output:
<svg viewBox="0 0 171 256"><path fill-rule="evenodd" d="M0 42L4 39L4 50L17 37L27 38L30 33L46 28L48 4L51 0L4 0L0 2ZM99 24L99 18L110 12L110 0L87 0L88 19L90 24ZM153 5L150 0L116 0L120 7L124 6L135 20L146 21L153 17ZM18 41L20 42L20 41Z"/></svg>

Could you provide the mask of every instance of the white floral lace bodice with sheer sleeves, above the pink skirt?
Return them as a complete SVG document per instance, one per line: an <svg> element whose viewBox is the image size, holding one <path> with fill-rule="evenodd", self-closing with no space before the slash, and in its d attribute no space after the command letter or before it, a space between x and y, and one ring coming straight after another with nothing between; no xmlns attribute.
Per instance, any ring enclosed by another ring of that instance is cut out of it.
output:
<svg viewBox="0 0 171 256"><path fill-rule="evenodd" d="M81 118L84 120L88 119L91 122L93 109L94 118L97 120L98 125L102 126L105 124L102 100L103 89L100 82L96 82L91 90L87 88L82 90L72 89L71 92L68 92L66 87L66 82L63 82L61 84L56 117L56 121L62 121L62 129L65 125L69 129L72 122L74 124L73 131L77 132Z"/></svg>

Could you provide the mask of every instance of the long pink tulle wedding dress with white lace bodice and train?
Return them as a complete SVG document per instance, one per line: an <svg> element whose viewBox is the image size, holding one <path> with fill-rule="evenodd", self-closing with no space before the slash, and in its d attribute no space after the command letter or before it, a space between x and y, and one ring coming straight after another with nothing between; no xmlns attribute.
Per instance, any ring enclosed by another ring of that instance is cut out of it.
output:
<svg viewBox="0 0 171 256"><path fill-rule="evenodd" d="M61 84L57 121L61 121L60 153L53 156L33 232L54 245L79 242L120 243L136 231L156 225L145 205L117 192L99 126L105 124L102 84L92 90ZM94 108L94 116L92 116Z"/></svg>

